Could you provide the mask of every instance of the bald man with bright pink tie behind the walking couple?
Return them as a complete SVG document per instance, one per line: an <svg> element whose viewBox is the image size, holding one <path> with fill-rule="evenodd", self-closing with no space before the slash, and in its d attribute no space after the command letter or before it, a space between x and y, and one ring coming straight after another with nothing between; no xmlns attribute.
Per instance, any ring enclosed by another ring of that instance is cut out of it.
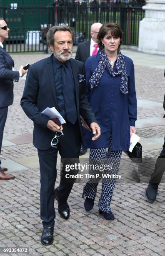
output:
<svg viewBox="0 0 165 256"><path fill-rule="evenodd" d="M101 26L102 24L99 22L92 24L92 26L90 27L91 39L78 44L75 59L82 61L85 64L85 61L88 57L97 54L97 52L99 51L97 45L97 34ZM87 150L81 147L80 156L84 155L86 152Z"/></svg>

